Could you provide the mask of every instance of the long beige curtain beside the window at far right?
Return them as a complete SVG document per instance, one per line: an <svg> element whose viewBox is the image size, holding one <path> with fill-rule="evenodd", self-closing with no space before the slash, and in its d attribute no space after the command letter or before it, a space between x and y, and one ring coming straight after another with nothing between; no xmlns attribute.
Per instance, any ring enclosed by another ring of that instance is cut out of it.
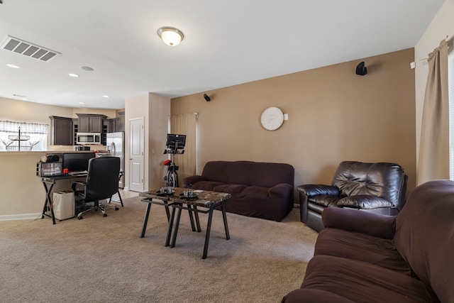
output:
<svg viewBox="0 0 454 303"><path fill-rule="evenodd" d="M448 45L428 55L416 183L449 179Z"/></svg>

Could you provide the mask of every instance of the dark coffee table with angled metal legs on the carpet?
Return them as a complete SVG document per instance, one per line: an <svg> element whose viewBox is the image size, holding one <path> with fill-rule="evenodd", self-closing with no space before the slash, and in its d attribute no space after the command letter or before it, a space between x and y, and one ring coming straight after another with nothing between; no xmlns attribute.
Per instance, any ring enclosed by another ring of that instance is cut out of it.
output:
<svg viewBox="0 0 454 303"><path fill-rule="evenodd" d="M225 204L228 201L228 198L231 197L231 194L224 193L224 192L210 192L206 190L194 190L194 195L196 197L182 197L184 188L175 187L175 192L172 194L158 194L158 190L154 189L149 192L142 192L139 195L141 197L145 197L143 202L148 202L147 210L145 211L145 218L143 220L143 228L142 228L142 236L143 238L145 234L145 229L148 222L148 216L150 214L150 206L151 204L160 204L166 207L167 211L167 218L169 221L169 227L167 229L167 238L165 241L165 246L170 246L171 248L175 247L175 242L177 241L177 234L179 228L179 219L181 218L182 209L187 209L191 214L194 214L197 231L200 231L200 224L199 224L199 216L198 214L208 214L208 223L206 224L206 235L205 235L205 245L204 245L204 253L202 255L202 259L206 258L208 253L208 246L209 246L209 238L210 238L210 231L211 231L211 221L213 219L213 211L214 209L221 209L223 221L224 221L224 229L226 231L226 239L230 239L230 234L228 233L228 224L227 224L227 216L226 216L226 209ZM168 207L172 206L172 214L168 215ZM199 209L199 207L203 209ZM175 211L177 210L177 220L175 221ZM192 215L189 216L192 222L192 230L194 231L194 224ZM175 228L174 228L175 223ZM173 231L173 233L172 233Z"/></svg>

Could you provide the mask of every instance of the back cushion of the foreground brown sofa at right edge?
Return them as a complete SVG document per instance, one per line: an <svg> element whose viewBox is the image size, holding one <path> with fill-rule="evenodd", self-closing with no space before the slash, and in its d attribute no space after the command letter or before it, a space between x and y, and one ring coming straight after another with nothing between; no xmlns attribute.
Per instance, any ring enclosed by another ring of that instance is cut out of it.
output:
<svg viewBox="0 0 454 303"><path fill-rule="evenodd" d="M454 302L454 182L426 182L396 219L394 244L441 302Z"/></svg>

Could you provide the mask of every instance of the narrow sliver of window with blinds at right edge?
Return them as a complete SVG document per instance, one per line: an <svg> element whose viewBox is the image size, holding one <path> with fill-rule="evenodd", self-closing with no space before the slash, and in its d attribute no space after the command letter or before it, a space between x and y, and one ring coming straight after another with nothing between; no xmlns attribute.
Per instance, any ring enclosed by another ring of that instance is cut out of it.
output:
<svg viewBox="0 0 454 303"><path fill-rule="evenodd" d="M453 38L448 42L448 90L449 90L449 177L454 180L454 50Z"/></svg>

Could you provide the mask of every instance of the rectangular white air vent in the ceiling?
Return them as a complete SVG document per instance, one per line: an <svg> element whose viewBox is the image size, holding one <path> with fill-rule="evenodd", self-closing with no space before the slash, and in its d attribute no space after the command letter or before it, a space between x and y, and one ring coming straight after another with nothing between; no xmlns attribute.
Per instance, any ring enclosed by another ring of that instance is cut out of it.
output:
<svg viewBox="0 0 454 303"><path fill-rule="evenodd" d="M1 44L0 48L45 62L50 62L61 55L61 53L57 53L54 50L42 48L33 43L11 37L11 35L4 40L4 43Z"/></svg>

